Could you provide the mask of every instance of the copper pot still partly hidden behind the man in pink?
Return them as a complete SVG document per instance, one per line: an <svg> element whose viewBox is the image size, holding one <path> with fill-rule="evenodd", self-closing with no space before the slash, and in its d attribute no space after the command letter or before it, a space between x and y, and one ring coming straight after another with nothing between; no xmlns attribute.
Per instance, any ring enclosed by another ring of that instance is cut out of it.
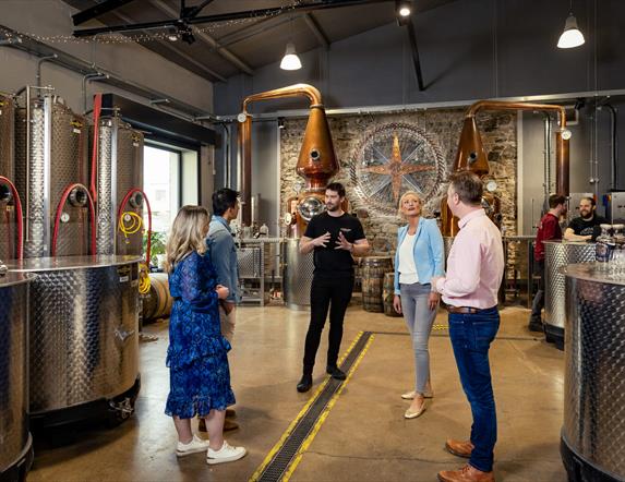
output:
<svg viewBox="0 0 625 482"><path fill-rule="evenodd" d="M556 112L560 119L560 129L555 133L555 183L557 194L568 195L569 180L569 150L568 140L570 131L566 129L566 113L564 107L552 106L549 104L526 104L526 103L506 103L498 100L480 100L473 104L465 115L465 123L460 133L460 142L454 160L453 172L472 171L480 178L485 178L489 172L489 160L478 124L476 115L479 110L536 110L544 112ZM501 200L493 193L484 191L482 195L482 206L489 217L497 226L501 225ZM458 233L458 218L455 217L449 206L447 206L447 196L441 200L441 228L443 236L454 237Z"/></svg>

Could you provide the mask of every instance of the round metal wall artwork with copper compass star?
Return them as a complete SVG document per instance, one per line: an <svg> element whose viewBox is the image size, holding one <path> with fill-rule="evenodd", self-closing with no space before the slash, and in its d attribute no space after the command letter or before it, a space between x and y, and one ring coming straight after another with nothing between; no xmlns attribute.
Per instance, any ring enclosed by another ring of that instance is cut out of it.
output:
<svg viewBox="0 0 625 482"><path fill-rule="evenodd" d="M416 191L423 204L435 196L447 166L432 135L417 125L388 123L364 133L353 150L350 174L368 208L396 216L401 193Z"/></svg>

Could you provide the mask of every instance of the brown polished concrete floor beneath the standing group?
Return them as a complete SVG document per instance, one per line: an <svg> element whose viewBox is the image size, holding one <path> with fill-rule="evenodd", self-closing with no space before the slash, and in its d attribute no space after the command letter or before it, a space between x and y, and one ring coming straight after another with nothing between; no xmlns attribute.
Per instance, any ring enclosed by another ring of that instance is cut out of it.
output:
<svg viewBox="0 0 625 482"><path fill-rule="evenodd" d="M566 481L558 454L563 410L563 352L525 327L528 311L507 308L491 351L498 417L495 474L506 481ZM230 444L249 454L209 468L203 454L177 459L176 431L164 414L169 389L165 366L167 322L148 325L158 340L141 345L143 387L136 413L116 429L91 426L60 447L37 441L29 481L245 481L298 415L309 397L298 394L307 312L281 306L240 308L230 352L241 429ZM437 324L444 325L441 312ZM433 481L460 467L446 437L467 437L470 411L460 388L446 329L431 338L435 398L426 412L404 419L411 389L410 341L401 318L348 310L342 350L361 330L374 337L325 423L291 475L293 481ZM315 386L324 379L326 332L317 354Z"/></svg>

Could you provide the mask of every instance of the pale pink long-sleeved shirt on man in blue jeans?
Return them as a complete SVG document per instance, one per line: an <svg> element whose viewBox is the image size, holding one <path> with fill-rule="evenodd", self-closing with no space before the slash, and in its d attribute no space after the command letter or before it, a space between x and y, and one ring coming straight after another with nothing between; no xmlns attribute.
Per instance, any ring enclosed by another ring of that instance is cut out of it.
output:
<svg viewBox="0 0 625 482"><path fill-rule="evenodd" d="M453 306L492 308L504 275L502 234L484 209L459 220L460 231L447 257L447 276L438 279L436 291Z"/></svg>

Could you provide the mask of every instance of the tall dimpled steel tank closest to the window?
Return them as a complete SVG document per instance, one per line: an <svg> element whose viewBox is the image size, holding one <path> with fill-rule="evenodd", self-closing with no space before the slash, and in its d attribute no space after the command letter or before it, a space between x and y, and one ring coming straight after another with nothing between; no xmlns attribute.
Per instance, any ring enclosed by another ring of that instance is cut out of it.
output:
<svg viewBox="0 0 625 482"><path fill-rule="evenodd" d="M97 253L141 255L143 230L124 236L118 229L118 210L135 213L143 218L143 198L140 193L121 203L127 193L143 190L143 134L133 130L118 117L99 121L97 161L98 233ZM127 226L136 218L128 218Z"/></svg>

